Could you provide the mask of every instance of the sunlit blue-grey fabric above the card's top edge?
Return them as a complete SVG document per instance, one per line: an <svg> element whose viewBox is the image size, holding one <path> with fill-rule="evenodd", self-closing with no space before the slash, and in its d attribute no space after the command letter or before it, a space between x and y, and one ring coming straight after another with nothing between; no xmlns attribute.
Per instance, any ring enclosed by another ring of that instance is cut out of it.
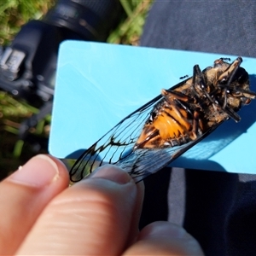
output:
<svg viewBox="0 0 256 256"><path fill-rule="evenodd" d="M254 1L157 1L142 46L256 57Z"/></svg>

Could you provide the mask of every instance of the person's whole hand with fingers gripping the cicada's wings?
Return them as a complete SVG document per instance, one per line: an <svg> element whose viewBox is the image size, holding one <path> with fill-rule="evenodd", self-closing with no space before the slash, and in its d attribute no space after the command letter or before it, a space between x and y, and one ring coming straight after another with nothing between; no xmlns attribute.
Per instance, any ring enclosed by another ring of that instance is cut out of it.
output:
<svg viewBox="0 0 256 256"><path fill-rule="evenodd" d="M118 167L68 180L59 160L38 155L0 183L0 255L202 255L175 224L137 230L143 183Z"/></svg>

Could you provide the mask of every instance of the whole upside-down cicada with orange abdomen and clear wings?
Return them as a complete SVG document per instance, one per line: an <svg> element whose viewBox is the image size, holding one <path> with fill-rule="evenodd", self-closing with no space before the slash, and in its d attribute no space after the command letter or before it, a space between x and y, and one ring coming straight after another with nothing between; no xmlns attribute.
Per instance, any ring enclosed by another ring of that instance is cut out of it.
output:
<svg viewBox="0 0 256 256"><path fill-rule="evenodd" d="M114 164L139 182L177 159L255 99L241 57L220 58L121 120L84 151L70 171L78 182L96 166Z"/></svg>

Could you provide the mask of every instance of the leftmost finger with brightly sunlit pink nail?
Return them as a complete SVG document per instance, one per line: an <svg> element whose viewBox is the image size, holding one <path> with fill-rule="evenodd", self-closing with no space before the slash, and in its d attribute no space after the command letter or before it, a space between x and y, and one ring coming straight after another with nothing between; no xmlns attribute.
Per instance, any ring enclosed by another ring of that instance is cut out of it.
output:
<svg viewBox="0 0 256 256"><path fill-rule="evenodd" d="M43 154L0 183L0 255L15 252L45 205L67 184L65 166Z"/></svg>

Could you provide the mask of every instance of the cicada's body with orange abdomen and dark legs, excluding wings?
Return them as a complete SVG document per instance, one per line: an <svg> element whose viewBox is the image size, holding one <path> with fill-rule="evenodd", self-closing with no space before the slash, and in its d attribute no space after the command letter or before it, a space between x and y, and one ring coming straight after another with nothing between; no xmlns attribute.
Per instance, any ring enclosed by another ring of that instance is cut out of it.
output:
<svg viewBox="0 0 256 256"><path fill-rule="evenodd" d="M241 58L231 64L219 59L171 90L154 107L134 148L174 147L195 140L225 119L240 120L236 113L255 98L249 91L247 72Z"/></svg>

